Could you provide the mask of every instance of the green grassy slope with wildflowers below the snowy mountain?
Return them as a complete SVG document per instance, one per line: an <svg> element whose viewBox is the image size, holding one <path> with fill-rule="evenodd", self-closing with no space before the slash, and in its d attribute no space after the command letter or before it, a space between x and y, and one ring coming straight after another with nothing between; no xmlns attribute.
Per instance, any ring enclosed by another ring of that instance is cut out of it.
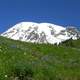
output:
<svg viewBox="0 0 80 80"><path fill-rule="evenodd" d="M0 37L0 80L80 80L80 40L71 44L32 44Z"/></svg>

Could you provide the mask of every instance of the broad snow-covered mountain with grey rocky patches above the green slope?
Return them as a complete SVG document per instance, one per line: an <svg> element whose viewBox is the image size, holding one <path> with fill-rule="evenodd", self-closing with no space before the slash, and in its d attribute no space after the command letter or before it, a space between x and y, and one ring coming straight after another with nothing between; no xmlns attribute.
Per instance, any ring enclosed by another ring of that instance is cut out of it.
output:
<svg viewBox="0 0 80 80"><path fill-rule="evenodd" d="M77 39L78 34L72 28L51 23L21 22L2 33L1 36L14 40L59 44L68 39Z"/></svg>

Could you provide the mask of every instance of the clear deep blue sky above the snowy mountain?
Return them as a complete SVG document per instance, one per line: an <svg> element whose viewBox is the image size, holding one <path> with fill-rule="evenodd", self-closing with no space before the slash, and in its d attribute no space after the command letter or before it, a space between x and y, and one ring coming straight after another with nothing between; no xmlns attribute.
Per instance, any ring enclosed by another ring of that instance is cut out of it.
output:
<svg viewBox="0 0 80 80"><path fill-rule="evenodd" d="M80 27L80 0L0 0L0 33L21 21Z"/></svg>

